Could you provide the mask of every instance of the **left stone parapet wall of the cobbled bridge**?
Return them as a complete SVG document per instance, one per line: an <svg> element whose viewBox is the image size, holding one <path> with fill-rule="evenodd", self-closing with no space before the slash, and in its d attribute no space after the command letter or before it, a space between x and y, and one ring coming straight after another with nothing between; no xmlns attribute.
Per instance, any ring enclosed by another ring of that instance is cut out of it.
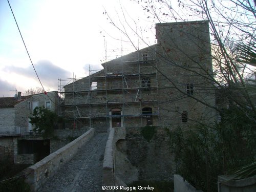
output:
<svg viewBox="0 0 256 192"><path fill-rule="evenodd" d="M26 182L31 186L31 191L36 191L49 177L55 175L57 170L68 162L77 153L78 148L88 142L93 135L94 129L91 128L74 141L27 168L25 173L29 176L26 178Z"/></svg>

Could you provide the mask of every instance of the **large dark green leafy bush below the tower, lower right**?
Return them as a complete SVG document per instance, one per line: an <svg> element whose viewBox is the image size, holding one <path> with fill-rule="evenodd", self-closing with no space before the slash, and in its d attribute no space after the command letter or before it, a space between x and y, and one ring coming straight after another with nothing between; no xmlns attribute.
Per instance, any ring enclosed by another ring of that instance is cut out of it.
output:
<svg viewBox="0 0 256 192"><path fill-rule="evenodd" d="M255 161L256 124L250 113L246 116L234 106L221 117L211 128L196 125L169 132L177 173L203 191L217 191L219 175Z"/></svg>

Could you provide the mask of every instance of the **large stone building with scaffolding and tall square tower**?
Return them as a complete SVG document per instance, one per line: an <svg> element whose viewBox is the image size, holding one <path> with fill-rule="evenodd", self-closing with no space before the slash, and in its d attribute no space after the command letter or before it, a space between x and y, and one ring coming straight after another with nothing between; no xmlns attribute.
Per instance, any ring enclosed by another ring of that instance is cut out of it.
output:
<svg viewBox="0 0 256 192"><path fill-rule="evenodd" d="M186 127L216 114L207 21L156 24L157 44L60 79L60 115L70 126Z"/></svg>

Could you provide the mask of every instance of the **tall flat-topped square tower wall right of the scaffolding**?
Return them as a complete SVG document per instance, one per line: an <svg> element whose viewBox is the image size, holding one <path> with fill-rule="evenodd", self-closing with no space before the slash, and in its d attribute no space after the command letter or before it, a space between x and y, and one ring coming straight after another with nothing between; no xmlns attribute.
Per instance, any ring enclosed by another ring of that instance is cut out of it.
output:
<svg viewBox="0 0 256 192"><path fill-rule="evenodd" d="M213 122L215 111L199 102L215 106L208 22L157 24L156 34L161 125L175 129L196 121ZM186 96L187 83L193 83L195 99ZM183 111L187 122L182 122Z"/></svg>

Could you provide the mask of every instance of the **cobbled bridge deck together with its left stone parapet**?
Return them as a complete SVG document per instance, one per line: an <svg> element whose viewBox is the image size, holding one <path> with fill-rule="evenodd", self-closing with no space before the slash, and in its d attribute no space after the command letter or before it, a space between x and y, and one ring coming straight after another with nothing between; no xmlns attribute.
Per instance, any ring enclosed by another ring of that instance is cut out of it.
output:
<svg viewBox="0 0 256 192"><path fill-rule="evenodd" d="M94 129L26 169L32 191L101 191L108 133Z"/></svg>

